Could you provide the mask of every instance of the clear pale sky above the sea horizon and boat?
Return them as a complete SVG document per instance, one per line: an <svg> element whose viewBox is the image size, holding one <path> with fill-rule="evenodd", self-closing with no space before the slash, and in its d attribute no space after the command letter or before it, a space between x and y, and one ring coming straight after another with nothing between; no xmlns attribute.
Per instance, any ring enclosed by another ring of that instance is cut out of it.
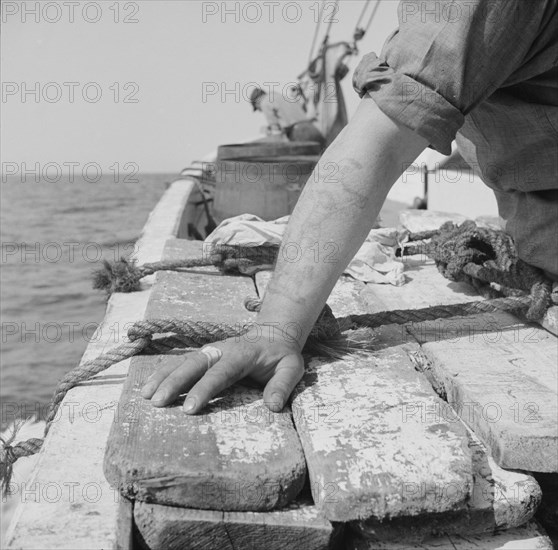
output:
<svg viewBox="0 0 558 550"><path fill-rule="evenodd" d="M376 0L371 0L367 21ZM325 1L321 35L352 38L365 0ZM352 70L380 52L397 26L396 0L380 3ZM2 2L2 172L25 163L70 170L176 173L220 144L262 136L246 101L305 68L321 0ZM276 83L276 84L271 84ZM116 163L116 164L115 164Z"/></svg>

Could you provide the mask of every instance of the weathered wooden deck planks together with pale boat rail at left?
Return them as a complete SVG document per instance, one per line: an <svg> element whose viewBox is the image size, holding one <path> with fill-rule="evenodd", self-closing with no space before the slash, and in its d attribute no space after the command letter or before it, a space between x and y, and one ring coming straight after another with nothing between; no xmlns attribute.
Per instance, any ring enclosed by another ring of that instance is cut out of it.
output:
<svg viewBox="0 0 558 550"><path fill-rule="evenodd" d="M199 253L197 243L164 234L166 244L159 236L144 261ZM407 262L403 287L341 279L328 300L334 313L480 299L431 263ZM243 299L256 288L264 293L269 276L159 273L144 293L113 297L113 313L122 323L244 324L254 317ZM136 305L126 309L132 298ZM533 520L541 489L531 472L558 473L556 336L490 315L384 326L370 337L371 351L311 359L281 413L269 412L261 391L246 384L196 417L183 415L180 403L153 408L138 390L153 369L179 360L173 354L135 358L72 390L66 400L83 405L97 388L95 399L120 414L96 425L62 418L35 480L67 481L61 456L77 464L85 449L88 467L72 472L82 484L97 483L102 499L78 496L50 508L27 502L10 548L552 548ZM103 458L118 490L103 477Z"/></svg>

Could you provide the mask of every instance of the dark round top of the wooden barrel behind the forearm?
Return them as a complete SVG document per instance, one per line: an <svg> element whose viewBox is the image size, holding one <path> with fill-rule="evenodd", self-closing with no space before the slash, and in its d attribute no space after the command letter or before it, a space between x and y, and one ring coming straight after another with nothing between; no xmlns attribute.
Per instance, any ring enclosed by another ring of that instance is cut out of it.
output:
<svg viewBox="0 0 558 550"><path fill-rule="evenodd" d="M254 141L221 145L217 160L257 159L319 155L321 146L315 141Z"/></svg>

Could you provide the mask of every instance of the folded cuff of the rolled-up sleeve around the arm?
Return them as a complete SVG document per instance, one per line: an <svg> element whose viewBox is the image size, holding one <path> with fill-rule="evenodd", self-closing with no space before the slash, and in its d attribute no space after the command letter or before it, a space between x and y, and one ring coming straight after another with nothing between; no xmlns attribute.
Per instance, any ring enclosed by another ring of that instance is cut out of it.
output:
<svg viewBox="0 0 558 550"><path fill-rule="evenodd" d="M465 117L438 92L394 71L375 54L356 68L353 86L360 97L370 96L390 118L425 138L433 149L451 154L451 143Z"/></svg>

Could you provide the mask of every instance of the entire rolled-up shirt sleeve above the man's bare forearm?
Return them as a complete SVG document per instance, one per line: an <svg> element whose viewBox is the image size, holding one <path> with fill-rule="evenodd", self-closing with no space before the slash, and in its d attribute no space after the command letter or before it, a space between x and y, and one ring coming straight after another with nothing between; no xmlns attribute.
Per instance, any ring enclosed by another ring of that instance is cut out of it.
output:
<svg viewBox="0 0 558 550"><path fill-rule="evenodd" d="M399 28L379 58L362 59L354 88L448 155L465 115L528 61L548 3L403 0Z"/></svg>

